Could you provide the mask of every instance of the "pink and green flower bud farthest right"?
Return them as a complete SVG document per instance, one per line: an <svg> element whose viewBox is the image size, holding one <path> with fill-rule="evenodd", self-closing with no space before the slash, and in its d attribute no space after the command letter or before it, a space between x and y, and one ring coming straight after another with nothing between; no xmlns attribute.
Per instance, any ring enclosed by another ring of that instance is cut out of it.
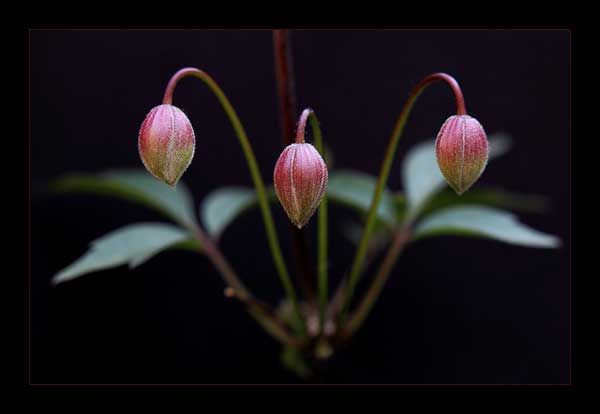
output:
<svg viewBox="0 0 600 414"><path fill-rule="evenodd" d="M477 181L488 160L483 127L469 115L454 115L444 122L435 142L438 166L450 187L461 195Z"/></svg>

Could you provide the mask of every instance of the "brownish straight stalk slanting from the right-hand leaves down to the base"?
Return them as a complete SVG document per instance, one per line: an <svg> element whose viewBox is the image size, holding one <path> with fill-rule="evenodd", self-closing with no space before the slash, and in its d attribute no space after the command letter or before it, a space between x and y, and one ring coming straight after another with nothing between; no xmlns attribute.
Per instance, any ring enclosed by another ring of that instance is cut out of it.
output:
<svg viewBox="0 0 600 414"><path fill-rule="evenodd" d="M344 337L349 338L352 336L358 328L365 321L369 312L371 311L373 305L377 301L377 298L381 295L381 291L385 286L390 274L391 270L398 260L398 256L406 246L408 240L410 240L411 230L409 227L401 227L396 231L394 235L394 240L388 249L388 252L373 279L373 283L365 293L363 300L360 302L356 311L350 317L348 321L348 325L346 326L345 332L343 334Z"/></svg>

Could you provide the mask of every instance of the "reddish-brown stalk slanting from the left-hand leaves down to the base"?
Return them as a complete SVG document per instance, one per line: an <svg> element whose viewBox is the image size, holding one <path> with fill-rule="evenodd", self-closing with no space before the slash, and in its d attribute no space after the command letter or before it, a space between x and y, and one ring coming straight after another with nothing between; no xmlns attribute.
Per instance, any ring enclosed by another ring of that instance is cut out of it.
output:
<svg viewBox="0 0 600 414"><path fill-rule="evenodd" d="M205 254L217 268L219 274L228 285L227 289L232 290L233 293L229 293L226 296L235 296L240 302L244 303L248 313L275 339L286 345L299 346L298 341L287 332L269 308L252 296L211 238L199 226L194 226L193 232L200 243L200 252Z"/></svg>

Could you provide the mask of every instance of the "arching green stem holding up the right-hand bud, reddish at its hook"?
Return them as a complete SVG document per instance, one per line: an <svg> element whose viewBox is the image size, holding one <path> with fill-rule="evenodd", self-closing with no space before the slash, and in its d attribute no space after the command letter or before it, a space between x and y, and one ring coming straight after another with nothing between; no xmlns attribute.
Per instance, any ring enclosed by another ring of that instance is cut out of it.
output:
<svg viewBox="0 0 600 414"><path fill-rule="evenodd" d="M375 193L373 194L373 199L371 200L371 206L369 208L369 212L367 213L367 219L365 223L365 227L363 229L363 233L356 249L356 255L354 257L354 262L352 263L352 267L350 269L350 274L348 275L348 284L346 285L346 295L344 298L344 306L342 307L342 312L340 315L340 326L345 322L346 316L348 314L348 310L350 308L350 303L352 301L352 296L354 294L354 289L356 287L356 282L358 281L358 274L362 271L365 255L367 253L367 248L369 244L369 238L373 232L373 228L375 226L375 219L377 209L379 208L379 203L381 202L381 197L383 194L383 189L387 183L388 177L390 175L390 169L392 166L392 162L394 161L394 155L396 153L396 148L398 147L398 141L400 136L402 135L402 131L404 130L404 126L406 125L406 121L410 114L410 111L415 104L417 98L423 93L423 91L431 85L435 81L444 81L446 82L454 96L456 98L456 113L457 115L466 115L467 110L465 106L465 100L463 98L462 92L458 85L458 82L445 73L434 73L425 77L421 82L415 86L408 97L408 100L404 104L402 111L400 112L400 116L396 121L396 125L392 131L392 136L390 137L390 141L388 147L385 152L385 156L383 162L381 163L381 170L379 172L379 178L377 180L377 186L375 187Z"/></svg>

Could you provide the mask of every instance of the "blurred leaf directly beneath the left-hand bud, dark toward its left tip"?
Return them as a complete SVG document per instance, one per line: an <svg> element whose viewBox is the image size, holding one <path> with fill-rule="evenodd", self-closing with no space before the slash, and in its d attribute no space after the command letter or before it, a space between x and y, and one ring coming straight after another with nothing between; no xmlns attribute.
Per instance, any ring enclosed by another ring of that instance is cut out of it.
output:
<svg viewBox="0 0 600 414"><path fill-rule="evenodd" d="M196 223L194 202L188 188L179 182L173 188L144 169L111 170L99 174L72 173L53 182L59 193L88 193L124 198L141 203L192 228Z"/></svg>

